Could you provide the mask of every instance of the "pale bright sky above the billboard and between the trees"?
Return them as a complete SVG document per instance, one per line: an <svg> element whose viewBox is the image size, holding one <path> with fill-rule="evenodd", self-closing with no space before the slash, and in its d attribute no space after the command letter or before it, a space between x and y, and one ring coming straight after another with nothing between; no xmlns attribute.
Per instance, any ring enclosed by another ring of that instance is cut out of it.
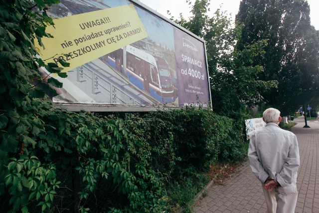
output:
<svg viewBox="0 0 319 213"><path fill-rule="evenodd" d="M152 9L159 12L161 15L170 17L167 15L167 10L170 11L171 15L175 18L179 17L179 13L183 14L184 18L189 16L189 5L186 0L140 0L145 5L151 7ZM193 0L192 0L193 1ZM226 10L231 13L232 20L234 20L235 15L239 9L239 3L241 0L210 0L210 12L213 13L217 8L221 7L221 10ZM319 0L308 0L310 5L310 18L311 24L319 30ZM208 15L209 15L208 13ZM212 15L211 15L212 16Z"/></svg>

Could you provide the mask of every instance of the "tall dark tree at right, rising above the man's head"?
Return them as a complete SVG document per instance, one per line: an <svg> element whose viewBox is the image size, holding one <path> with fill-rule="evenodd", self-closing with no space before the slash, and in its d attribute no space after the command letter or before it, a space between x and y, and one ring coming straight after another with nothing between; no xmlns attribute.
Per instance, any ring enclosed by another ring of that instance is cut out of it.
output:
<svg viewBox="0 0 319 213"><path fill-rule="evenodd" d="M256 79L279 82L278 88L260 94L283 115L319 95L319 32L310 25L309 12L306 0L243 0L236 16L241 27L237 50L268 41L265 54L252 64L264 69Z"/></svg>

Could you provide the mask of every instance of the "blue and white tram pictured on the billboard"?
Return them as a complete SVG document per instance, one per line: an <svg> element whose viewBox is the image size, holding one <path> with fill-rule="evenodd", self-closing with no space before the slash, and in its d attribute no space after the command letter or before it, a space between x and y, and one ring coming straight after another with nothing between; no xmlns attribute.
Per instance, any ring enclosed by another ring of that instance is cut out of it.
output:
<svg viewBox="0 0 319 213"><path fill-rule="evenodd" d="M115 50L103 58L113 68L124 75L123 48ZM126 46L126 76L135 86L148 92L161 103L171 103L176 99L167 61L131 45Z"/></svg>

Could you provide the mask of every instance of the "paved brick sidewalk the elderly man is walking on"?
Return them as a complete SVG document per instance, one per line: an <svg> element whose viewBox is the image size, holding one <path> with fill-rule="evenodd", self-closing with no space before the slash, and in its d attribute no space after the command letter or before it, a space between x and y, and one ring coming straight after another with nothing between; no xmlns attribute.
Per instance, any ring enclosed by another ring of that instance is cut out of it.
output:
<svg viewBox="0 0 319 213"><path fill-rule="evenodd" d="M298 138L300 167L297 179L299 191L296 213L319 213L319 120L294 120L292 128ZM193 208L194 213L267 213L260 181L252 173L248 162L240 172L226 180L226 186L213 186L207 196Z"/></svg>

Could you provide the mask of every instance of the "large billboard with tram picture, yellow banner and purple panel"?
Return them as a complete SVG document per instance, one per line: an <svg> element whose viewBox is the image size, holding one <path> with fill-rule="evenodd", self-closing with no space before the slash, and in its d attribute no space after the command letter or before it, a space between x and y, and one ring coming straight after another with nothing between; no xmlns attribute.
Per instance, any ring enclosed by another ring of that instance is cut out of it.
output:
<svg viewBox="0 0 319 213"><path fill-rule="evenodd" d="M63 83L53 102L73 111L210 108L204 40L142 3L61 0L47 13L54 37L36 46L39 56L70 63L66 78L50 74Z"/></svg>

